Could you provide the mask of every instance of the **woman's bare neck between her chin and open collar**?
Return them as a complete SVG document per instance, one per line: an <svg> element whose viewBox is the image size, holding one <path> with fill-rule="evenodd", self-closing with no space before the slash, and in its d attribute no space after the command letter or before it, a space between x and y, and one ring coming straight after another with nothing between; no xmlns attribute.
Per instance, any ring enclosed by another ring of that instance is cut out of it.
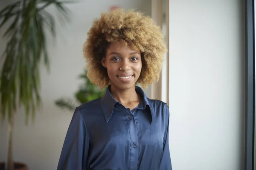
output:
<svg viewBox="0 0 256 170"><path fill-rule="evenodd" d="M140 96L136 93L135 86L129 89L120 89L111 86L110 93L117 102L120 102L123 105L140 101Z"/></svg>

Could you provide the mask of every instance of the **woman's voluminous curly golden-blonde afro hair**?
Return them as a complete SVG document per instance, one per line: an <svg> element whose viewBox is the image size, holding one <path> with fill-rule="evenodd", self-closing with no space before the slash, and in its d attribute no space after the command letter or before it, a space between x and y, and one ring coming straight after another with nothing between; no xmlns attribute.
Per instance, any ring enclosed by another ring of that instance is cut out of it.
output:
<svg viewBox="0 0 256 170"><path fill-rule="evenodd" d="M87 77L101 89L110 84L107 69L101 60L111 42L140 49L142 70L137 82L143 88L158 81L166 46L160 27L151 17L132 10L115 9L102 13L99 19L94 20L87 33L83 54L87 62Z"/></svg>

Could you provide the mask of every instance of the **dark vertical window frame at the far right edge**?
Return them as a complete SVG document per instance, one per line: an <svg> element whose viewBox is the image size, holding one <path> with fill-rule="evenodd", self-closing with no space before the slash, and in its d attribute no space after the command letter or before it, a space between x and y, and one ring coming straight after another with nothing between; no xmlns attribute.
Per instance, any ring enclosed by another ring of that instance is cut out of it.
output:
<svg viewBox="0 0 256 170"><path fill-rule="evenodd" d="M246 0L245 6L246 43L246 115L245 115L245 157L244 169L254 169L255 132L255 37L254 0Z"/></svg>

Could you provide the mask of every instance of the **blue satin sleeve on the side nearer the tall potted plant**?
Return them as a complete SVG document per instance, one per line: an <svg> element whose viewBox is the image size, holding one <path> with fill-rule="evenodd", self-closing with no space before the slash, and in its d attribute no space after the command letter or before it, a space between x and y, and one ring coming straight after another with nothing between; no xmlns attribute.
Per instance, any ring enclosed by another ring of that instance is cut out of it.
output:
<svg viewBox="0 0 256 170"><path fill-rule="evenodd" d="M84 170L88 147L89 136L84 118L76 108L67 130L57 170Z"/></svg>

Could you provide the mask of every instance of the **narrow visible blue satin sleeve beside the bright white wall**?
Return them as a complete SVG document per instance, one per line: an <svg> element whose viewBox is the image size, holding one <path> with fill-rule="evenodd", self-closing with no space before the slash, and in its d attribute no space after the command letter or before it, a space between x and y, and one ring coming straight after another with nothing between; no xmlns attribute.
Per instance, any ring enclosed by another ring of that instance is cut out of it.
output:
<svg viewBox="0 0 256 170"><path fill-rule="evenodd" d="M169 108L166 105L164 108L166 119L168 119L168 123L166 123L166 132L165 132L165 139L163 143L163 156L160 161L159 170L172 170L172 163L169 151Z"/></svg>

